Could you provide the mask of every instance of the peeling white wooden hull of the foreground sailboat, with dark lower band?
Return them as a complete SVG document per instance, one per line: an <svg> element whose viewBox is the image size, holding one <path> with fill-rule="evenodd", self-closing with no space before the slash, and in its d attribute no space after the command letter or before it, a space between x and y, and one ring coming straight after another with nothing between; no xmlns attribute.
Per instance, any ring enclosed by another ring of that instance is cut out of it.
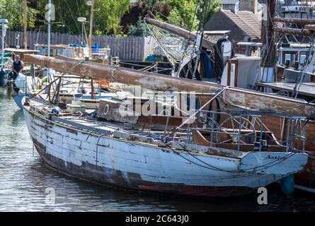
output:
<svg viewBox="0 0 315 226"><path fill-rule="evenodd" d="M190 196L239 196L287 177L287 172L298 172L307 160L305 154L294 154L290 162L280 161L282 167L249 173L245 168L251 168L252 161L266 164L267 156L280 153L232 158L176 152L66 126L33 112L30 107L24 107L24 115L35 148L47 165L79 179L125 189ZM200 160L199 164L190 162L195 160L193 155Z"/></svg>

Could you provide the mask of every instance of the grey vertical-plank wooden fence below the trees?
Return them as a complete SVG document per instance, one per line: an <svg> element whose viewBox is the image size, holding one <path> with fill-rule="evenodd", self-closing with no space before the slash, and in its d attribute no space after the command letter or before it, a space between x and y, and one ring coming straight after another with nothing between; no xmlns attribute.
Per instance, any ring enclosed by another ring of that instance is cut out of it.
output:
<svg viewBox="0 0 315 226"><path fill-rule="evenodd" d="M23 32L6 32L6 44L10 47L17 45L23 47ZM28 49L34 49L35 44L47 44L46 32L28 31ZM51 44L81 44L84 40L82 35L69 35L62 33L52 33ZM110 48L110 54L113 57L119 57L122 60L142 61L151 52L154 46L154 39L148 42L144 37L115 37L108 35L93 36L93 44L98 44L100 48ZM146 40L146 42L144 41ZM152 44L153 43L153 44Z"/></svg>

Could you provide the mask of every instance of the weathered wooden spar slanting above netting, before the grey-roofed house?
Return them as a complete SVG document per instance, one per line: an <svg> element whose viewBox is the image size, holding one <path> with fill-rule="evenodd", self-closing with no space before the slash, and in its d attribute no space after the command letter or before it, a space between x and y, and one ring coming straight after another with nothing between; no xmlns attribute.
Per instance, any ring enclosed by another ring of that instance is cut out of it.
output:
<svg viewBox="0 0 315 226"><path fill-rule="evenodd" d="M167 30L168 32L171 32L175 35L181 36L185 38L185 40L189 40L191 42L195 42L196 34L194 32L189 32L189 30L185 30L183 28L178 28L177 26L161 22L159 20L154 20L151 18L144 18L144 21L146 23L150 23L151 25L155 25L156 27L159 27L161 29ZM210 37L203 38L202 40L202 47L205 47L207 49L213 50L214 44L216 44L216 40L210 40Z"/></svg>

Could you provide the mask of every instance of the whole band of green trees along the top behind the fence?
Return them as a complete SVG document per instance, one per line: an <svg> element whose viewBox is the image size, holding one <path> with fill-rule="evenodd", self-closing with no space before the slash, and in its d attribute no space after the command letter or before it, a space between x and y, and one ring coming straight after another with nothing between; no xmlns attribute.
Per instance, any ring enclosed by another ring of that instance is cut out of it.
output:
<svg viewBox="0 0 315 226"><path fill-rule="evenodd" d="M125 34L143 36L146 32L145 25L138 21L148 11L154 13L159 20L167 20L168 23L180 25L190 30L196 30L200 24L209 20L220 7L217 0L207 0L207 13L200 12L200 7L205 0L139 0L137 6L130 9L130 0L94 0L93 34ZM91 8L87 0L52 0L55 6L55 23L52 24L52 32L66 32L74 35L82 33L79 17L90 20ZM45 14L47 0L28 0L28 30L47 29ZM195 13L197 9L197 13ZM130 12L130 13L129 13ZM11 30L23 30L23 1L0 0L0 18L9 21ZM89 23L85 24L86 32Z"/></svg>

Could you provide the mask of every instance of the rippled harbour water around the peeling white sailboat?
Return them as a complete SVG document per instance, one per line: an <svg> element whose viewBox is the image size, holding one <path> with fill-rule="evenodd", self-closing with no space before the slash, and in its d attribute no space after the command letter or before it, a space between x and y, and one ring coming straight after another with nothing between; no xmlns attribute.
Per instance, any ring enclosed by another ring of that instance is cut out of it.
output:
<svg viewBox="0 0 315 226"><path fill-rule="evenodd" d="M53 196L52 196L53 194ZM48 198L47 198L48 197ZM53 198L52 198L53 197ZM47 168L30 141L23 112L0 88L0 211L314 211L315 194L268 187L238 198L161 196L98 186Z"/></svg>

